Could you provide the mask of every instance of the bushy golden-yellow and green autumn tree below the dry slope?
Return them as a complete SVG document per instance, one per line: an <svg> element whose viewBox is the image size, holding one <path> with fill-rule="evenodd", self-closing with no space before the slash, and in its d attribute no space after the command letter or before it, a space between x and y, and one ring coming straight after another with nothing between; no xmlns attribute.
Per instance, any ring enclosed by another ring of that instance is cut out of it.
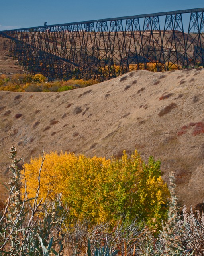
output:
<svg viewBox="0 0 204 256"><path fill-rule="evenodd" d="M41 157L25 164L27 192L35 196ZM45 157L41 171L40 198L63 194L71 216L89 218L92 223L114 221L118 217L158 224L165 218L169 191L161 178L160 161L141 159L137 151L129 158L93 158L84 155L57 154Z"/></svg>

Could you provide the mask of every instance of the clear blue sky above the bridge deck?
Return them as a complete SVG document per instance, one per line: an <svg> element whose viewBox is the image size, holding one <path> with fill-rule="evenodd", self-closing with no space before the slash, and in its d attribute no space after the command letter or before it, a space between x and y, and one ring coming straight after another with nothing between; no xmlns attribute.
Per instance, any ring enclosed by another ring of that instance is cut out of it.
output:
<svg viewBox="0 0 204 256"><path fill-rule="evenodd" d="M202 7L201 0L1 0L0 30Z"/></svg>

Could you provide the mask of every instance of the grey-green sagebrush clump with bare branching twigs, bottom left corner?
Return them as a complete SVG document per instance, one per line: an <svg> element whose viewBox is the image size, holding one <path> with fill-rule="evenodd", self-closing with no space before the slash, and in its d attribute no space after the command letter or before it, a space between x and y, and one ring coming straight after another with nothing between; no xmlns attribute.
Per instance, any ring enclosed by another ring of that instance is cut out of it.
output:
<svg viewBox="0 0 204 256"><path fill-rule="evenodd" d="M62 227L67 213L62 208L61 196L52 202L39 199L41 168L35 197L28 198L27 188L21 194L22 172L18 168L21 159L16 159L15 147L11 148L10 153L12 176L8 182L9 197L0 214L0 255L47 256L50 252L61 255L64 239ZM41 166L44 160L45 155Z"/></svg>

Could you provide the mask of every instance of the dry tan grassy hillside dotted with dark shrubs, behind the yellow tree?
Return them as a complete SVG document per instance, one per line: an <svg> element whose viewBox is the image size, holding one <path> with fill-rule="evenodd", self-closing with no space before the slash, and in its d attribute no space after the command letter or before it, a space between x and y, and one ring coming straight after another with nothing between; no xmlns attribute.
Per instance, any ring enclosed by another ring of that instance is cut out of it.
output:
<svg viewBox="0 0 204 256"><path fill-rule="evenodd" d="M159 83L158 83L159 81ZM121 156L135 148L175 171L180 203L204 199L204 70L139 70L67 92L0 92L1 178L15 145L29 162L46 152ZM3 194L4 192L2 192Z"/></svg>

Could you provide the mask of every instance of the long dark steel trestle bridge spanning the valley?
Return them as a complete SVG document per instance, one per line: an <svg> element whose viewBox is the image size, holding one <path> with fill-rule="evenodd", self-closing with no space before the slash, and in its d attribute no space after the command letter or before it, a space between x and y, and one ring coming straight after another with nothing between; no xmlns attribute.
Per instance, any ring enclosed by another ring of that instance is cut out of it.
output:
<svg viewBox="0 0 204 256"><path fill-rule="evenodd" d="M108 80L204 67L204 8L0 31L29 73Z"/></svg>

